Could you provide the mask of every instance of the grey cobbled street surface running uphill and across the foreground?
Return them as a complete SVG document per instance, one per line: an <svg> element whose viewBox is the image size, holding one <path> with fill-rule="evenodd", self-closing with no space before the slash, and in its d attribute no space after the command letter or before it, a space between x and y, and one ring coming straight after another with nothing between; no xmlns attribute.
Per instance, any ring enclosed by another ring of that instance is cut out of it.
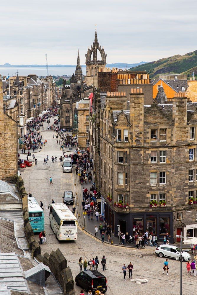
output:
<svg viewBox="0 0 197 295"><path fill-rule="evenodd" d="M52 121L52 120L51 120ZM59 144L53 140L53 131L42 131L43 137L47 139L47 145L43 147L42 151L37 154L38 165L21 169L22 178L24 179L25 188L27 192L31 192L37 199L44 204L45 213L45 230L47 243L41 245L41 253L50 253L52 250L59 248L65 255L68 265L71 268L73 277L79 273L79 257L87 258L88 260L98 255L99 261L102 255L105 255L106 271L102 271L99 265L99 271L103 272L108 279L108 291L106 294L130 294L130 293L152 293L154 295L179 294L179 280L180 280L180 262L169 259L169 276L162 273L164 258L159 258L154 254L154 248L147 250L136 250L133 248L120 247L101 243L90 235L88 232L78 228L78 237L76 242L59 242L56 240L53 231L49 225L48 219L48 204L51 199L57 202L62 201L64 190L75 191L77 184L73 173L63 173L59 160L51 163L51 156L57 155L57 158L62 155ZM49 155L50 161L48 165L43 165L43 159ZM21 155L22 156L22 155ZM24 155L25 158L25 155ZM53 186L49 185L49 178L53 178ZM76 184L76 186L74 185ZM80 198L80 197L78 197ZM76 201L79 199L76 199ZM79 203L79 202L78 202ZM77 210L80 210L77 207ZM91 222L91 221L89 221ZM93 224L95 222L92 222ZM126 275L126 281L123 280L122 265L129 262L133 264L132 278L146 278L149 282L147 284L137 284L131 282ZM193 277L187 274L186 265L183 263L183 294L196 295L197 276ZM79 295L81 287L75 285L75 293ZM87 294L85 292L85 294Z"/></svg>

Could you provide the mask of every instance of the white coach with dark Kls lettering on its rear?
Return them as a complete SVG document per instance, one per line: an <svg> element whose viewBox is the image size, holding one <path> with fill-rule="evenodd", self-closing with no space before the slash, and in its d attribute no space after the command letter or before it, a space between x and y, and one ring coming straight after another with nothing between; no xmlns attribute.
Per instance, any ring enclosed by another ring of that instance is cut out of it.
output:
<svg viewBox="0 0 197 295"><path fill-rule="evenodd" d="M49 222L56 238L61 241L76 240L77 219L63 203L49 205Z"/></svg>

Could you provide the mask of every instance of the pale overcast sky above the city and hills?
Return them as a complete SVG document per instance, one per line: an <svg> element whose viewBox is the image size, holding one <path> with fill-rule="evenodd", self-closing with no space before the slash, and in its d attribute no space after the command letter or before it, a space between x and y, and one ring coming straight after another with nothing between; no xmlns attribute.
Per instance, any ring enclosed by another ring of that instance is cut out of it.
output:
<svg viewBox="0 0 197 295"><path fill-rule="evenodd" d="M107 63L197 49L196 0L9 0L0 6L0 64L81 64L97 24Z"/></svg>

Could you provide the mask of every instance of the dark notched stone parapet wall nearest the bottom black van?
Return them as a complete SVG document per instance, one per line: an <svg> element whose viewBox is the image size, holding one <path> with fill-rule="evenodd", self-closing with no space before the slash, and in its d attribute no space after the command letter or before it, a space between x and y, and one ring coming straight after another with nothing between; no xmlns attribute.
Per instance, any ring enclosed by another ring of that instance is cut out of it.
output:
<svg viewBox="0 0 197 295"><path fill-rule="evenodd" d="M56 251L52 251L50 255L45 253L43 258L40 255L38 258L50 268L56 280L62 287L64 295L75 295L71 269L67 266L67 260L59 248Z"/></svg>

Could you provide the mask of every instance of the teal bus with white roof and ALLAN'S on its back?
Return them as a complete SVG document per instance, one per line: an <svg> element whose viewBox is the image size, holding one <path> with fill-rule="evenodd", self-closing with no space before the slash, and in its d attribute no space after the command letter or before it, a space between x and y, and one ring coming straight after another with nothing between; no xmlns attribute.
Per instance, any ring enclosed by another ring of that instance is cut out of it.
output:
<svg viewBox="0 0 197 295"><path fill-rule="evenodd" d="M44 212L35 198L28 197L29 221L33 232L43 232L45 229Z"/></svg>

